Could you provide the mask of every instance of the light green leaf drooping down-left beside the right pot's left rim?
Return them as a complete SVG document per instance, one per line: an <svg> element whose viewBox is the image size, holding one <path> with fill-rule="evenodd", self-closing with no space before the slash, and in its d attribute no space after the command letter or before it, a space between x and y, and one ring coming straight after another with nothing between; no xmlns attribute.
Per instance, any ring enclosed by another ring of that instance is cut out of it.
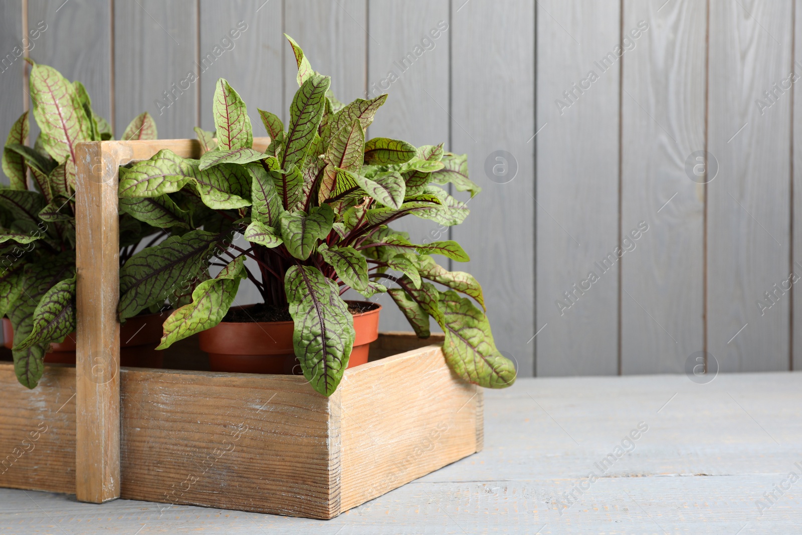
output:
<svg viewBox="0 0 802 535"><path fill-rule="evenodd" d="M240 281L246 277L244 261L245 257L234 258L217 277L197 285L192 291L192 302L164 321L164 335L156 349L167 349L178 340L220 323L237 296Z"/></svg>

